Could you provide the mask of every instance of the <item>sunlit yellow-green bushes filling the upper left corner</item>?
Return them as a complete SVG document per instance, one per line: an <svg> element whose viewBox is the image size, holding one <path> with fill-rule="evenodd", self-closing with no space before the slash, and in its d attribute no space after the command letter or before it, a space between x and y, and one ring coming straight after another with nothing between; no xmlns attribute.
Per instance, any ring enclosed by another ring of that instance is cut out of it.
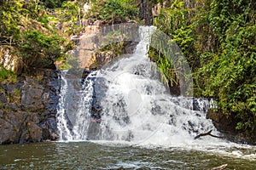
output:
<svg viewBox="0 0 256 170"><path fill-rule="evenodd" d="M55 59L64 58L72 47L67 37L80 31L75 26L80 6L63 0L1 0L2 48L20 57L23 72L31 67L54 69Z"/></svg>

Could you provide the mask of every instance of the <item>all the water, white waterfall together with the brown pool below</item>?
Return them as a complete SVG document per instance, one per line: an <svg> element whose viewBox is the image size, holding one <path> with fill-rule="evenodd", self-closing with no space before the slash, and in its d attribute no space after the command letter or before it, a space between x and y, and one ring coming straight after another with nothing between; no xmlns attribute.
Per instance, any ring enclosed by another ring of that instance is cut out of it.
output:
<svg viewBox="0 0 256 170"><path fill-rule="evenodd" d="M0 169L256 169L254 146L194 139L222 135L206 116L212 104L168 94L148 59L152 32L140 27L134 54L84 82L62 71L59 141L0 145Z"/></svg>

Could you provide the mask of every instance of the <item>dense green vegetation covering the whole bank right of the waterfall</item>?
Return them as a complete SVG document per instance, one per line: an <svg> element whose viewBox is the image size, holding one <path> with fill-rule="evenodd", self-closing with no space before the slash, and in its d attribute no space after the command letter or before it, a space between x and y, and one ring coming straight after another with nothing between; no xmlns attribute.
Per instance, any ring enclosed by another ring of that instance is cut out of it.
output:
<svg viewBox="0 0 256 170"><path fill-rule="evenodd" d="M250 0L173 1L154 20L188 59L195 96L216 99L218 110L235 116L236 129L247 133L256 132L255 12ZM172 71L158 58L164 73Z"/></svg>

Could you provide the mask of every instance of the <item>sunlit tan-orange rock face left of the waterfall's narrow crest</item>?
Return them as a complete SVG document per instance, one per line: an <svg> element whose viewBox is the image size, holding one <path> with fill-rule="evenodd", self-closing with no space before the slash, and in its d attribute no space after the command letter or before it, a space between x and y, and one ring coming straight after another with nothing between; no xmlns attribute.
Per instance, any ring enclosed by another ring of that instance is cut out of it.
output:
<svg viewBox="0 0 256 170"><path fill-rule="evenodd" d="M83 20L81 20L84 23ZM74 68L96 70L102 65L108 63L111 59L116 58L117 54L113 53L115 49L101 50L101 48L112 44L113 42L123 42L121 54L132 54L137 46L138 26L132 23L127 25L116 25L102 27L102 21L96 20L91 24L81 24L84 26L84 32L71 37L76 43L76 47L70 51L71 59L77 59L78 62L72 64ZM125 32L109 37L115 31ZM58 64L57 64L58 65Z"/></svg>

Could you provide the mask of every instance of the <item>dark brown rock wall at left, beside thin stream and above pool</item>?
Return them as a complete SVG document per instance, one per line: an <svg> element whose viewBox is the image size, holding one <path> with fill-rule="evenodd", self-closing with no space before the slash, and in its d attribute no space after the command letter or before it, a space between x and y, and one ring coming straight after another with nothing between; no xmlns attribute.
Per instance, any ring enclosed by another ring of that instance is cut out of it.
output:
<svg viewBox="0 0 256 170"><path fill-rule="evenodd" d="M58 72L35 70L18 82L0 84L0 144L57 139Z"/></svg>

